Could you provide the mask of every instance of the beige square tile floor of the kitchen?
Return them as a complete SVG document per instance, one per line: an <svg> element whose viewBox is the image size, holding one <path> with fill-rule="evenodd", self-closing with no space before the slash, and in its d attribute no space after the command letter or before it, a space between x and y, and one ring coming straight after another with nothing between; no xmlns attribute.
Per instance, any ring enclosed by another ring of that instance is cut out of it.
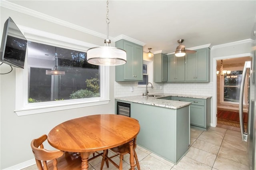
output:
<svg viewBox="0 0 256 170"><path fill-rule="evenodd" d="M249 170L247 142L238 131L211 127L208 131L190 129L190 147L186 155L174 165L156 154L137 146L141 170ZM109 155L112 154L109 152ZM89 162L89 170L100 170L101 157ZM119 163L116 157L114 162ZM124 157L123 169L128 170L129 155ZM30 166L24 170L36 170ZM110 163L104 170L116 170Z"/></svg>

